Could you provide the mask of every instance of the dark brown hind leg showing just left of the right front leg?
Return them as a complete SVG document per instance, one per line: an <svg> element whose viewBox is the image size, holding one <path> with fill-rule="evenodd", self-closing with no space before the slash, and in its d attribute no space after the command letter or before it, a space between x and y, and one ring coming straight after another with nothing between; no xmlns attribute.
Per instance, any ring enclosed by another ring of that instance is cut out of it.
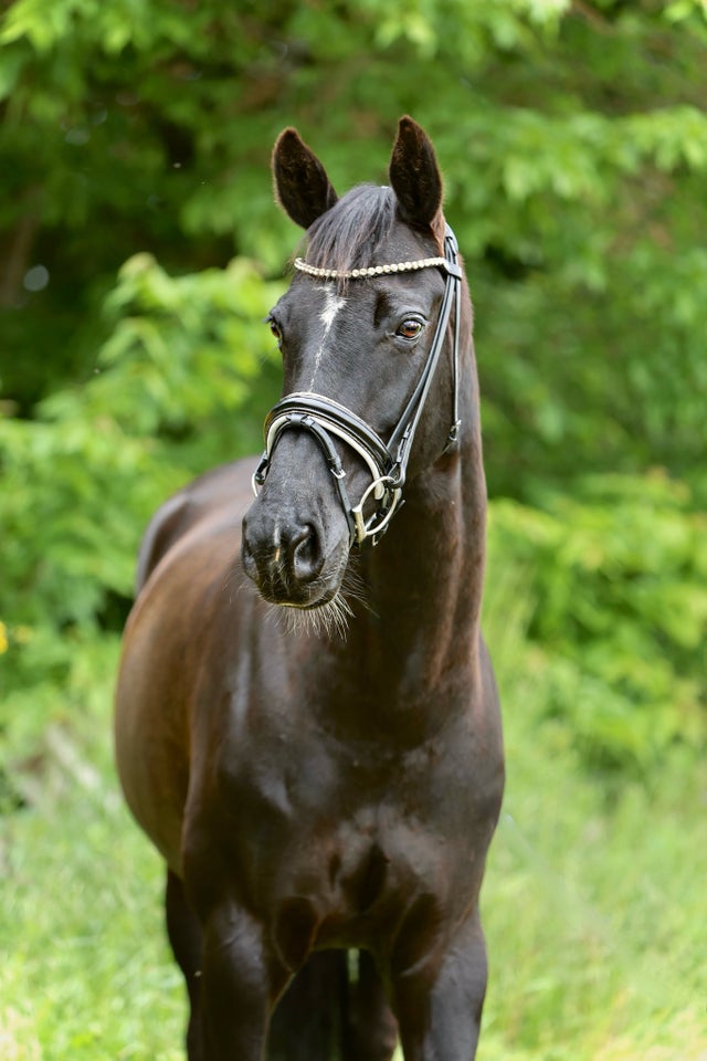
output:
<svg viewBox="0 0 707 1061"><path fill-rule="evenodd" d="M358 979L349 987L342 1061L390 1061L398 1026L371 955L358 954Z"/></svg>

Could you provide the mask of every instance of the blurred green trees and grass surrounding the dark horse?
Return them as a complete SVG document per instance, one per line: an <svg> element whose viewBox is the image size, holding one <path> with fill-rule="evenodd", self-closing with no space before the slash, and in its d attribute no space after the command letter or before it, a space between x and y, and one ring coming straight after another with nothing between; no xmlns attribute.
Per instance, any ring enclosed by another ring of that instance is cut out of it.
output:
<svg viewBox="0 0 707 1061"><path fill-rule="evenodd" d="M705 0L10 0L0 1055L183 1058L110 701L141 532L255 452L300 233L431 135L472 287L508 791L481 1061L707 1058Z"/></svg>

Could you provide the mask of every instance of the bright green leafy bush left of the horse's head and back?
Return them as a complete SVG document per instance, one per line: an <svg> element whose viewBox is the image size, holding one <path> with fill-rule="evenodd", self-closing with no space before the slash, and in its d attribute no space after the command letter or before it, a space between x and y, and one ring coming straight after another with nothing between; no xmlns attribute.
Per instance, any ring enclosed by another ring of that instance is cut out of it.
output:
<svg viewBox="0 0 707 1061"><path fill-rule="evenodd" d="M91 380L34 421L0 419L0 764L86 694L159 501L257 448L278 375L262 319L279 290L243 260L171 279L138 255Z"/></svg>

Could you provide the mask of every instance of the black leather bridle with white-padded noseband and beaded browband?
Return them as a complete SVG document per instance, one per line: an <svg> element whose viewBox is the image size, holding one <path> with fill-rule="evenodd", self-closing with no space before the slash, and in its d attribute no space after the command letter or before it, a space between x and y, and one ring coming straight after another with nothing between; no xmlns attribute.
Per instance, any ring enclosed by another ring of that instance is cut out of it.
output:
<svg viewBox="0 0 707 1061"><path fill-rule="evenodd" d="M366 542L370 542L371 545L378 544L380 536L388 528L392 516L402 504L402 489L405 483L410 451L444 346L452 304L454 304L454 408L452 427L443 452L449 452L458 438L461 427L461 420L458 419L458 347L462 269L457 262L457 251L456 239L447 224L444 235L444 258L425 258L414 262L370 265L346 271L319 269L316 265L309 265L302 259L296 259L296 269L321 280L359 280L412 272L419 269L440 267L446 272L444 295L425 366L388 443L383 442L365 420L361 420L359 416L347 409L346 406L339 405L333 398L326 398L324 395L309 391L295 391L273 406L265 418L265 450L253 474L253 490L256 495L258 489L265 482L273 451L283 431L291 428L309 431L317 440L334 476L349 527L349 548L354 545L362 546ZM352 505L350 502L345 483L346 471L341 464L335 439L340 439L358 453L368 465L371 474L371 483L363 491L357 505ZM371 496L378 504L376 511L367 519L363 515L363 506Z"/></svg>

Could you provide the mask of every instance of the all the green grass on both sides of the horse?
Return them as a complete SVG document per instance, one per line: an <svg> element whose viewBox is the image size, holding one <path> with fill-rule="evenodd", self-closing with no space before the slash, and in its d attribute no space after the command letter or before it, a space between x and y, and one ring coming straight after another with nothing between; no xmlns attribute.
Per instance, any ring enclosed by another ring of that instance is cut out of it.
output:
<svg viewBox="0 0 707 1061"><path fill-rule="evenodd" d="M707 1061L704 768L685 752L651 786L589 776L538 723L516 618L498 639L509 776L479 1061ZM109 681L44 735L30 805L1 819L3 1061L183 1061L162 870L118 797Z"/></svg>

